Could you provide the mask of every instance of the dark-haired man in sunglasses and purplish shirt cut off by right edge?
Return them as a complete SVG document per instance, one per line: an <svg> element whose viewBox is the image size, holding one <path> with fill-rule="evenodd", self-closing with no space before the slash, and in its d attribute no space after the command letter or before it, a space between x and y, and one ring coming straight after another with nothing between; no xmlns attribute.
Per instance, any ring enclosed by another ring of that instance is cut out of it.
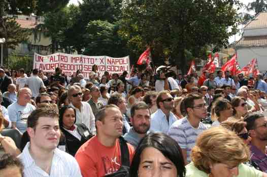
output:
<svg viewBox="0 0 267 177"><path fill-rule="evenodd" d="M263 172L267 172L267 117L262 113L250 113L245 116L247 130L251 137L251 161Z"/></svg>

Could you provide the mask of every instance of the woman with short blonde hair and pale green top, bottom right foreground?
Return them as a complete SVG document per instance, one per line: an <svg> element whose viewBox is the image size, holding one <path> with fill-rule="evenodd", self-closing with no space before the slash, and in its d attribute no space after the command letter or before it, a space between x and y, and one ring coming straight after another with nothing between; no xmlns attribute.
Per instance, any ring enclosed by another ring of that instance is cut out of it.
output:
<svg viewBox="0 0 267 177"><path fill-rule="evenodd" d="M187 177L266 177L267 174L249 167L250 151L235 132L212 127L198 136L192 149L192 162L186 166Z"/></svg>

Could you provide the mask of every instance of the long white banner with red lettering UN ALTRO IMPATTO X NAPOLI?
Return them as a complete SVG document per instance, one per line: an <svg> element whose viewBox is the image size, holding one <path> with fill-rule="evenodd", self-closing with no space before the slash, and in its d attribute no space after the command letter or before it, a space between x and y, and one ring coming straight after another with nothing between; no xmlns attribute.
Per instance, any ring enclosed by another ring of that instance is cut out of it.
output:
<svg viewBox="0 0 267 177"><path fill-rule="evenodd" d="M45 72L55 72L55 69L60 67L67 77L71 77L73 73L80 69L82 70L84 78L89 79L89 73L92 71L93 65L97 65L98 67L98 78L101 78L105 71L108 71L110 74L118 73L119 75L121 75L123 71L127 71L128 74L126 78L129 78L129 56L112 58L108 56L85 56L64 53L42 56L35 53L33 68Z"/></svg>

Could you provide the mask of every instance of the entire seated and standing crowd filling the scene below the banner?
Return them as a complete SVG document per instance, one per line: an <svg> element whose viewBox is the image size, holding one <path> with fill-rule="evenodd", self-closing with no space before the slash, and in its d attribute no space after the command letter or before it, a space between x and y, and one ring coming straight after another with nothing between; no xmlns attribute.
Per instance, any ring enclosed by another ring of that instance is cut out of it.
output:
<svg viewBox="0 0 267 177"><path fill-rule="evenodd" d="M92 68L0 69L0 176L267 176L264 74Z"/></svg>

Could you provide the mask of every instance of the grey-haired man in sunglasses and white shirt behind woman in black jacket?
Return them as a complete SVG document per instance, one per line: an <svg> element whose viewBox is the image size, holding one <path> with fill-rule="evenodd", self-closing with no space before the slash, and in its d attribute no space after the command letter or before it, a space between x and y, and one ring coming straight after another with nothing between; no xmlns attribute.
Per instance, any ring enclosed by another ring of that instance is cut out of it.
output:
<svg viewBox="0 0 267 177"><path fill-rule="evenodd" d="M68 97L71 102L71 106L76 111L76 123L84 123L95 135L95 120L91 106L87 102L82 102L82 90L78 85L70 86L68 90Z"/></svg>

